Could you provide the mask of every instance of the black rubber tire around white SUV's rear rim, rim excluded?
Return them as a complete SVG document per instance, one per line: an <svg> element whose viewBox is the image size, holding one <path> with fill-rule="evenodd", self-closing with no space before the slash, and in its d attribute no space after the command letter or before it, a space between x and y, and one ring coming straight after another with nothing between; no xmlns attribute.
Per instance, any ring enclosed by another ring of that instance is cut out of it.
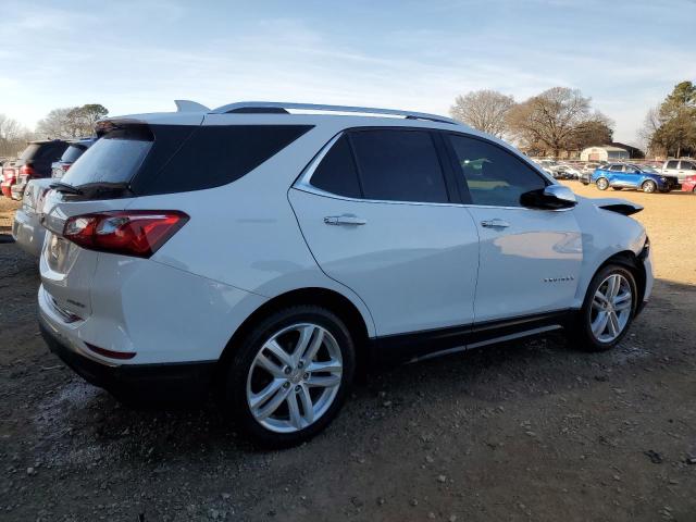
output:
<svg viewBox="0 0 696 522"><path fill-rule="evenodd" d="M326 330L340 350L343 372L338 391L328 409L312 424L291 433L277 433L256 420L247 401L247 378L261 347L275 333L298 323L312 323ZM355 345L345 323L333 312L316 306L290 307L260 321L239 343L227 368L224 405L251 443L264 448L287 448L309 440L337 415L346 400L356 368Z"/></svg>

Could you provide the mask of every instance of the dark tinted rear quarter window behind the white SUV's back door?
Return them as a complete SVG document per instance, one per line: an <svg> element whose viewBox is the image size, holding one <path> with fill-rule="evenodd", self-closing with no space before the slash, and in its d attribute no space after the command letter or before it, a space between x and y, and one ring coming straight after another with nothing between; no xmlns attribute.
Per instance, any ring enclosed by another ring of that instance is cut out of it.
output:
<svg viewBox="0 0 696 522"><path fill-rule="evenodd" d="M148 167L134 182L134 190L142 195L169 194L226 185L254 170L310 128L311 125L198 127L157 172L158 165L148 160ZM156 142L158 140L159 135Z"/></svg>

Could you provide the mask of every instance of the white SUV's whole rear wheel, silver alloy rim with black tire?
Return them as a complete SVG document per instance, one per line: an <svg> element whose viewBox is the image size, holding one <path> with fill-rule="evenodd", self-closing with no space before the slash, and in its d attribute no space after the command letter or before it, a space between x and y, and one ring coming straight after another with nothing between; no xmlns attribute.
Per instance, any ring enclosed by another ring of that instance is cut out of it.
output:
<svg viewBox="0 0 696 522"><path fill-rule="evenodd" d="M344 323L320 307L283 310L239 348L227 398L250 438L265 447L300 444L337 414L352 378L355 350Z"/></svg>

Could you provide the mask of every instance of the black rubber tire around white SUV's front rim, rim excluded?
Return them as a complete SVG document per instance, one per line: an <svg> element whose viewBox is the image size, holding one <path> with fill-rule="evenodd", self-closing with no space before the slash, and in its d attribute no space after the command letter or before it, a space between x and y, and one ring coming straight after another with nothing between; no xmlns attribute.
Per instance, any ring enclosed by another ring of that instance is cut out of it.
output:
<svg viewBox="0 0 696 522"><path fill-rule="evenodd" d="M632 294L631 311L629 320L621 334L611 341L602 343L597 339L597 337L592 332L592 306L597 289L605 282L605 279L612 274L620 274L629 282ZM607 266L604 266L595 274L592 282L589 283L589 286L587 287L587 294L585 295L585 300L583 302L583 308L577 312L573 323L569 325L567 332L569 341L576 348L584 351L610 350L611 348L617 346L621 341L621 339L623 339L624 335L631 327L631 323L633 322L633 318L635 316L635 310L637 307L637 285L630 270L619 264L608 264Z"/></svg>

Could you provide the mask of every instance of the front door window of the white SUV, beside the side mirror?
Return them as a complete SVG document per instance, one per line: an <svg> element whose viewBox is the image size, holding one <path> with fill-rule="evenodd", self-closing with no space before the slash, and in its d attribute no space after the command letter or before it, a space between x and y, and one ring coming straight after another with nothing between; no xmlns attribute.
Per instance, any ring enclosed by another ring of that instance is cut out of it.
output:
<svg viewBox="0 0 696 522"><path fill-rule="evenodd" d="M512 153L488 141L449 135L473 204L522 207L520 197L548 183Z"/></svg>

